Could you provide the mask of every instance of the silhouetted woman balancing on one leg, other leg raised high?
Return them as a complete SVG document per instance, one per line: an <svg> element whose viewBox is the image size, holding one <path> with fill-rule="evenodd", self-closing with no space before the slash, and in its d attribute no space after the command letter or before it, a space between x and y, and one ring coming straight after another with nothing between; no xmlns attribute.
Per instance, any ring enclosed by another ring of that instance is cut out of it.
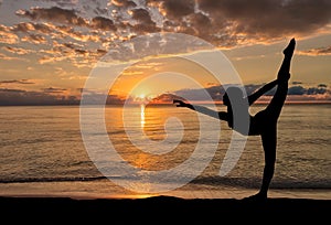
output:
<svg viewBox="0 0 331 225"><path fill-rule="evenodd" d="M243 92L238 87L228 87L225 95L223 96L223 104L227 106L227 111L214 111L203 106L193 106L186 104L182 100L173 100L178 104L178 107L188 107L192 110L215 117L221 120L227 121L232 129L233 126L233 107L232 104L236 106L239 105L239 109L244 109L244 114L248 115L249 128L248 133L243 130L236 130L242 135L248 136L260 136L261 143L265 153L265 167L263 173L263 181L260 190L257 194L252 195L247 199L252 200L266 200L269 189L269 184L274 176L275 163L276 163L276 148L277 148L277 121L284 106L287 92L288 92L288 79L290 78L290 62L296 46L296 40L292 39L288 46L282 51L284 60L282 64L278 71L277 79L266 84L256 93L247 96L247 99L243 96ZM270 100L269 105L264 109L258 111L255 116L249 115L248 107L254 104L261 95L270 90L277 85L277 90ZM231 96L232 103L229 101L228 95ZM235 98L235 99L234 99ZM248 101L248 104L247 104ZM246 104L244 104L246 103ZM243 115L243 111L241 111ZM236 118L236 117L235 117ZM239 126L241 127L241 126Z"/></svg>

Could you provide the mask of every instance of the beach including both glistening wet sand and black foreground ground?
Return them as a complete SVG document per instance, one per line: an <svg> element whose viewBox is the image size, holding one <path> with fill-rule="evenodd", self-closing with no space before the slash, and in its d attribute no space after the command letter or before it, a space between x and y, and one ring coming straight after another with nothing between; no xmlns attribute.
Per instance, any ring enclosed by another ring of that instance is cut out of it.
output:
<svg viewBox="0 0 331 225"><path fill-rule="evenodd" d="M270 189L264 203L244 197L256 189L183 186L161 194L135 194L100 182L0 184L0 215L14 222L77 224L317 224L330 219L331 190ZM264 221L265 217L270 221ZM231 221L231 222L229 222ZM109 223L108 223L109 222Z"/></svg>

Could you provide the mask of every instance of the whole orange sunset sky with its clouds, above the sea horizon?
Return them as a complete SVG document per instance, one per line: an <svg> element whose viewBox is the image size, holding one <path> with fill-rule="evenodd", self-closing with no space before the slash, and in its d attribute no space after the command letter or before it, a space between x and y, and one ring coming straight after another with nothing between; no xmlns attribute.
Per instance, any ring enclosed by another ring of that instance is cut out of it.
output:
<svg viewBox="0 0 331 225"><path fill-rule="evenodd" d="M0 105L76 104L103 56L116 56L119 45L158 32L212 44L249 88L275 78L281 50L295 36L290 94L298 100L330 100L330 1L314 0L1 0ZM150 61L126 71L110 93L127 94L136 87L134 95L142 96L190 88L180 77L170 82L174 73L169 68L205 87L220 85L183 61ZM156 74L142 84L143 77Z"/></svg>

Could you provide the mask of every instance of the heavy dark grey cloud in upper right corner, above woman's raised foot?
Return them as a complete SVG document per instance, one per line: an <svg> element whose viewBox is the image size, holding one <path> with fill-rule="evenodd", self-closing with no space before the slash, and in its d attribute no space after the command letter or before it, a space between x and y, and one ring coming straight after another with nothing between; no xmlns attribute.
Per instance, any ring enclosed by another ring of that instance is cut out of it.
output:
<svg viewBox="0 0 331 225"><path fill-rule="evenodd" d="M201 10L216 23L233 22L234 34L255 39L309 34L331 20L331 1L325 0L197 0ZM222 26L218 28L222 31Z"/></svg>

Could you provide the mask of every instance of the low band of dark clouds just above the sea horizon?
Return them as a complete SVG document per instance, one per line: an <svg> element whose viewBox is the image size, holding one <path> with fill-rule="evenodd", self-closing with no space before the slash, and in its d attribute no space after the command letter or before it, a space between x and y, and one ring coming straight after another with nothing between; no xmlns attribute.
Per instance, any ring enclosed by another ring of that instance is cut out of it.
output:
<svg viewBox="0 0 331 225"><path fill-rule="evenodd" d="M29 83L28 81L2 81L2 83ZM247 94L252 94L260 88L261 85L245 85ZM41 92L28 92L23 89L13 88L0 88L0 105L77 105L81 103L79 98L76 96L66 96L65 88L49 87ZM79 89L82 90L82 89ZM270 99L275 94L275 88L269 93L266 93L261 97L263 100ZM205 101L210 100L206 98L205 92L211 96L214 101L222 101L223 95L225 93L225 86L216 85L204 89L180 89L174 93L166 93L153 98L152 104L164 104L172 103L173 99L189 99L192 101ZM127 99L117 95L98 94L94 92L84 90L84 103L90 105L105 104L107 105L122 105ZM331 92L327 89L327 85L318 85L317 87L302 87L302 86L291 86L288 90L289 100L331 100ZM134 99L128 99L132 101Z"/></svg>

